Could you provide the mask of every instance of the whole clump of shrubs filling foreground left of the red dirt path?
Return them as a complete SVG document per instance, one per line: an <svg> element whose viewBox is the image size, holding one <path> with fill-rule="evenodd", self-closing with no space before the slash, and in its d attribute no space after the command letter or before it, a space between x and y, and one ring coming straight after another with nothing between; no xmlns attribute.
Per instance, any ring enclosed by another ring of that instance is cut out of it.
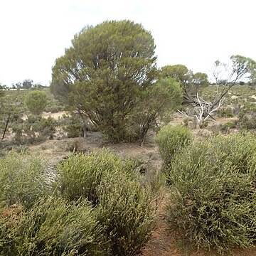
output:
<svg viewBox="0 0 256 256"><path fill-rule="evenodd" d="M63 160L50 186L40 160L6 153L0 255L138 255L156 217L141 175L136 161L102 149Z"/></svg>

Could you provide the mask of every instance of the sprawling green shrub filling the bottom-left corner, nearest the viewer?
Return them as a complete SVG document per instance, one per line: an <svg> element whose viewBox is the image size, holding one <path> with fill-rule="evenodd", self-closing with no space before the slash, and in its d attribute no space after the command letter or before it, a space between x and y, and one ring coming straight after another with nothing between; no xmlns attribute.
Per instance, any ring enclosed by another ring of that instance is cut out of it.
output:
<svg viewBox="0 0 256 256"><path fill-rule="evenodd" d="M88 203L42 198L31 210L0 223L0 255L107 256L109 242ZM5 233L3 233L5 232Z"/></svg>

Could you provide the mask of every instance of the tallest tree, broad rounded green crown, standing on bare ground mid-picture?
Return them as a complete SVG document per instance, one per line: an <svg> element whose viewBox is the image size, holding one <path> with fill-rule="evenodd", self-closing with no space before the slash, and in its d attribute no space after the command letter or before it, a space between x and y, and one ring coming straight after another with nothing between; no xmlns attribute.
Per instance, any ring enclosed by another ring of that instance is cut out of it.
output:
<svg viewBox="0 0 256 256"><path fill-rule="evenodd" d="M110 141L143 140L171 96L163 94L169 92L165 85L159 91L161 83L154 84L158 70L151 33L132 21L105 21L84 28L72 43L53 67L53 94Z"/></svg>

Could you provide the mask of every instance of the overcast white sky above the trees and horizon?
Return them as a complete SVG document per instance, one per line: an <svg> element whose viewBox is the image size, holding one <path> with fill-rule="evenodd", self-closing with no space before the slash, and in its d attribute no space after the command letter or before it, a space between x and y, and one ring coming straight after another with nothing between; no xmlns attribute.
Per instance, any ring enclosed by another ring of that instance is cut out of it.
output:
<svg viewBox="0 0 256 256"><path fill-rule="evenodd" d="M84 26L130 19L151 31L157 63L210 74L213 62L256 60L255 0L0 0L0 83L49 85L55 59Z"/></svg>

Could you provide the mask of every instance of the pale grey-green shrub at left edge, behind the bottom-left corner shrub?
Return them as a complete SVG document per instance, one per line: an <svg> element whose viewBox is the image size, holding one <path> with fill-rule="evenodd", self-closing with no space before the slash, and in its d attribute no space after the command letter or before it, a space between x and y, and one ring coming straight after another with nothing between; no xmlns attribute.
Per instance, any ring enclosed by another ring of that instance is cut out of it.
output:
<svg viewBox="0 0 256 256"><path fill-rule="evenodd" d="M43 162L25 152L6 152L0 159L0 188L0 206L21 203L31 207L48 193Z"/></svg>

